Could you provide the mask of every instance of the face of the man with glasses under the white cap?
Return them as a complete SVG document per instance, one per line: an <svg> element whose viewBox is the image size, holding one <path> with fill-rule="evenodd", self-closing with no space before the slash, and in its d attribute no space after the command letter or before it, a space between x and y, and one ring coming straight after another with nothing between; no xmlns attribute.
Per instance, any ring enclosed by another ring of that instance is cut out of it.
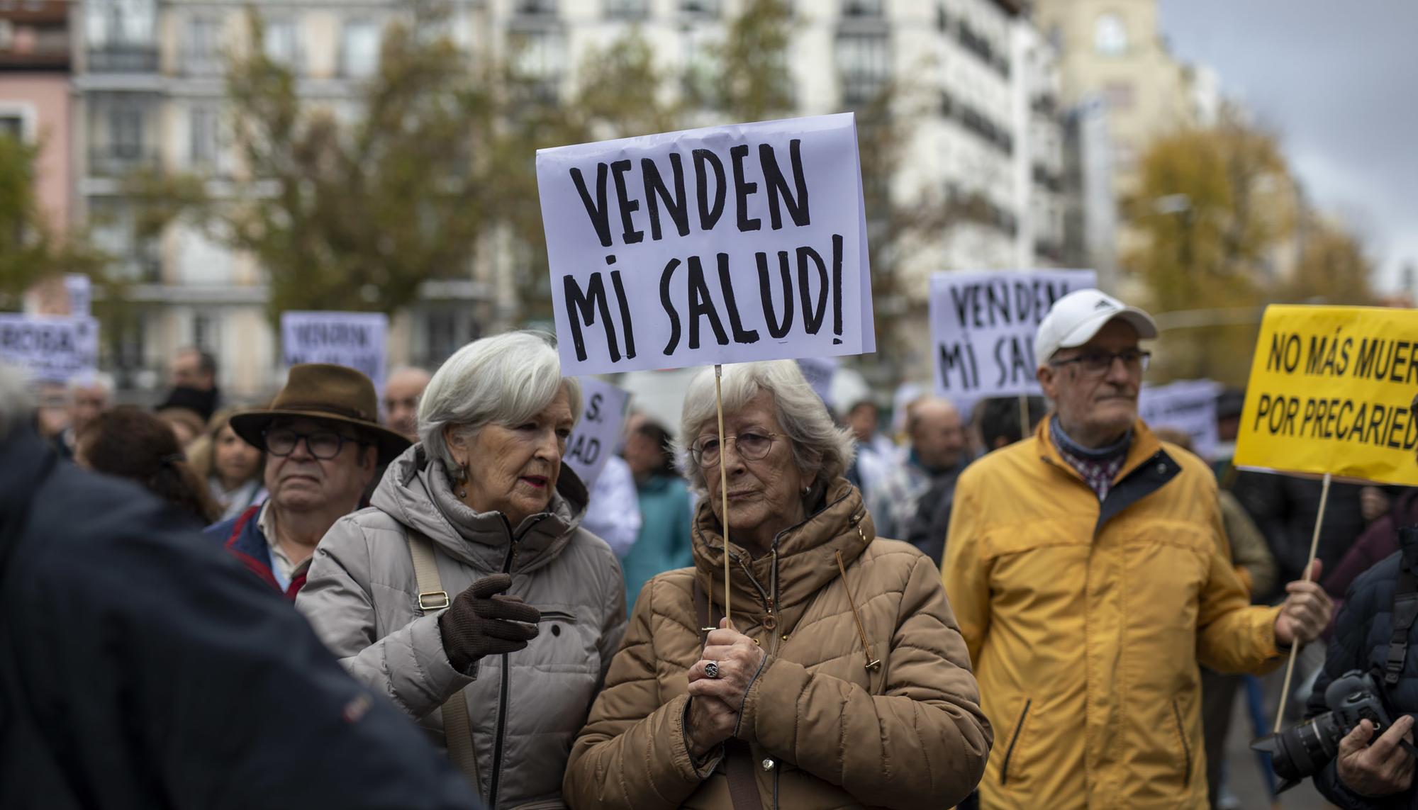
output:
<svg viewBox="0 0 1418 810"><path fill-rule="evenodd" d="M1039 371L1044 394L1054 401L1059 426L1085 446L1102 447L1137 419L1137 391L1149 354L1137 347L1137 330L1112 320L1083 346L1061 348Z"/></svg>

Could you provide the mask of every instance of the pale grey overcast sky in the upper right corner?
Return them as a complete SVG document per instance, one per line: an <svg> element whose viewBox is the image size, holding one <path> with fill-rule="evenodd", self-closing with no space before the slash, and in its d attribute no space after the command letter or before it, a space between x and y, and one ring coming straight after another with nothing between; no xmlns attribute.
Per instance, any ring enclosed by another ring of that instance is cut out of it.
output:
<svg viewBox="0 0 1418 810"><path fill-rule="evenodd" d="M1275 130L1320 210L1378 261L1418 268L1418 1L1161 0L1184 61Z"/></svg>

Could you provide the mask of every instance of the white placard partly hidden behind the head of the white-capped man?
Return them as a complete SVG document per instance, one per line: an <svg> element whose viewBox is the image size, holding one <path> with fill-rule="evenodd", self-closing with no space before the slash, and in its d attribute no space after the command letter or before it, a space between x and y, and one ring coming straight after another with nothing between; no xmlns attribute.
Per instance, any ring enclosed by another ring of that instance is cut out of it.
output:
<svg viewBox="0 0 1418 810"><path fill-rule="evenodd" d="M1054 302L1098 283L1093 270L977 270L930 276L936 394L960 402L1039 394L1034 333Z"/></svg>

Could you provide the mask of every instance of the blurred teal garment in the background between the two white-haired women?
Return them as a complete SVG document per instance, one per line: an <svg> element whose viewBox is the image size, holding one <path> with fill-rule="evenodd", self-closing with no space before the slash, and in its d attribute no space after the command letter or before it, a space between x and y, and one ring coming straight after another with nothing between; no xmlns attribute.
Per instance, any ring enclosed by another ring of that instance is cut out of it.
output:
<svg viewBox="0 0 1418 810"><path fill-rule="evenodd" d="M635 608L635 596L652 576L693 565L689 551L689 527L693 504L682 479L655 476L637 484L640 494L640 534L635 545L621 559L625 572L625 609Z"/></svg>

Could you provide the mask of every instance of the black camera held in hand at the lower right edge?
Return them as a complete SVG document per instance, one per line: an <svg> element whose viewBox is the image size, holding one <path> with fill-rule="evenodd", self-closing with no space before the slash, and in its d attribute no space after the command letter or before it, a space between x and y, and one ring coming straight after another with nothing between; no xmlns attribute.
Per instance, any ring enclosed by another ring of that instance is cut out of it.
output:
<svg viewBox="0 0 1418 810"><path fill-rule="evenodd" d="M1371 674L1350 670L1324 690L1324 705L1330 711L1252 742L1252 749L1271 755L1271 768L1283 780L1276 793L1295 787L1329 765L1339 753L1339 741L1360 721L1374 724L1375 734L1387 731L1391 721L1381 695ZM1408 741L1400 743L1409 755L1418 756L1418 748Z"/></svg>

